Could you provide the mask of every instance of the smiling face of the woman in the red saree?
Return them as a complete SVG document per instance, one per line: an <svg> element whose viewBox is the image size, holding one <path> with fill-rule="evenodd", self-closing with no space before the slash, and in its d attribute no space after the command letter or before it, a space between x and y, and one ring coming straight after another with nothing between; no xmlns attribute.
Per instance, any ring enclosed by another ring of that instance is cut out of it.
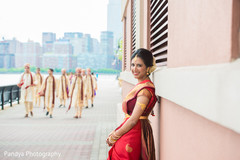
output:
<svg viewBox="0 0 240 160"><path fill-rule="evenodd" d="M131 61L131 71L134 78L138 80L144 80L147 77L147 67L143 60L137 56Z"/></svg>

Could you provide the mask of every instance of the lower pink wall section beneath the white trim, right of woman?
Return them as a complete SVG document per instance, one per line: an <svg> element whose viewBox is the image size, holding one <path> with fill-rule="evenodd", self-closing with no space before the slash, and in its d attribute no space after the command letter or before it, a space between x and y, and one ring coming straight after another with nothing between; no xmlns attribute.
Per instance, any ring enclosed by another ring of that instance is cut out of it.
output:
<svg viewBox="0 0 240 160"><path fill-rule="evenodd" d="M161 160L239 160L240 134L161 100Z"/></svg>

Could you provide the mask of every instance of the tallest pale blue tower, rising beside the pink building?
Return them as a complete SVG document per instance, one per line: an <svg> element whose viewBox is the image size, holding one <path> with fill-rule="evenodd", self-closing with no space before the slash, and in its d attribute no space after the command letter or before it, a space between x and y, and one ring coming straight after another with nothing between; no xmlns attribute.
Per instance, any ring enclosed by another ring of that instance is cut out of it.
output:
<svg viewBox="0 0 240 160"><path fill-rule="evenodd" d="M107 31L113 32L114 48L122 37L121 0L109 0L107 7Z"/></svg>

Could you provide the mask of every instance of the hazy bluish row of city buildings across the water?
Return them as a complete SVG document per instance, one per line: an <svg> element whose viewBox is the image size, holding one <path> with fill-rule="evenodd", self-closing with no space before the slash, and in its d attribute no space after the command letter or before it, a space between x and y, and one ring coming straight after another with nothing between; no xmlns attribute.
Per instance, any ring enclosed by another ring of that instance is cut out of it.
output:
<svg viewBox="0 0 240 160"><path fill-rule="evenodd" d="M36 67L66 68L115 68L113 32L101 32L101 40L81 32L43 32L39 42L20 42L16 39L0 41L0 68L22 67L31 62ZM117 66L116 66L117 67ZM118 67L119 68L119 67Z"/></svg>

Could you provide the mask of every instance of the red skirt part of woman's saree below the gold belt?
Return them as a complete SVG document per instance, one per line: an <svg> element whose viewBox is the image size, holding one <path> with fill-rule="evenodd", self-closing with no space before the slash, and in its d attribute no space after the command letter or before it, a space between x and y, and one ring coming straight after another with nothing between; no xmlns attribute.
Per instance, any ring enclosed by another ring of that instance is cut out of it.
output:
<svg viewBox="0 0 240 160"><path fill-rule="evenodd" d="M124 121L124 123L125 122L126 121ZM124 136L122 136L112 146L108 157L108 160L155 159L155 147L152 135L152 127L147 119L139 120L138 123L130 131L124 134Z"/></svg>

